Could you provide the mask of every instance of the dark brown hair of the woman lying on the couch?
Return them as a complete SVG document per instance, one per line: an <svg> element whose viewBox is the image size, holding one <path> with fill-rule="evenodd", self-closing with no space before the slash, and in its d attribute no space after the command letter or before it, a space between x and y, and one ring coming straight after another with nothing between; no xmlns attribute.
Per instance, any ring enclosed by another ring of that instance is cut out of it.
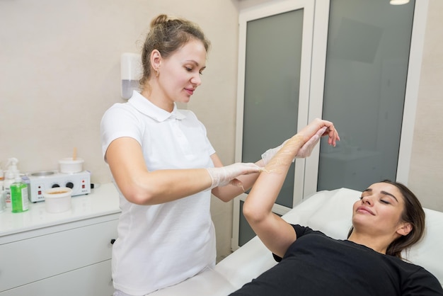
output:
<svg viewBox="0 0 443 296"><path fill-rule="evenodd" d="M401 214L401 221L410 223L412 230L408 235L398 237L398 239L392 241L391 244L389 244L388 249L386 249L386 255L402 258L401 252L405 249L409 249L420 241L425 233L425 211L422 208L420 200L418 200L415 194L402 183L390 180L384 180L380 183L389 183L396 186L396 188L400 190L401 195L403 195L405 208ZM351 227L347 237L350 237L353 229L354 227Z"/></svg>

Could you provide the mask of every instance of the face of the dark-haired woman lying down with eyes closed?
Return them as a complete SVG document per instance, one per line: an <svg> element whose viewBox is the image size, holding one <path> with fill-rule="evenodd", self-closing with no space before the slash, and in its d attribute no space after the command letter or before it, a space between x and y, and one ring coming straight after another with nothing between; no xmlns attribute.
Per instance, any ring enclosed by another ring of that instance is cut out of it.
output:
<svg viewBox="0 0 443 296"><path fill-rule="evenodd" d="M393 235L404 225L401 215L405 207L400 190L389 183L374 183L362 192L354 203L352 224L374 235Z"/></svg>

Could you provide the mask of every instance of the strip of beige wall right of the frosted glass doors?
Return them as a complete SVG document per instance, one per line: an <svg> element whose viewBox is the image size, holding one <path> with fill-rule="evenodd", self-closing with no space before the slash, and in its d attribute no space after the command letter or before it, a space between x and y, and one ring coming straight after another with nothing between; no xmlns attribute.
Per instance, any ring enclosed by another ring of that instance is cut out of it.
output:
<svg viewBox="0 0 443 296"><path fill-rule="evenodd" d="M443 211L442 16L443 1L430 0L408 182L424 207L439 211Z"/></svg>

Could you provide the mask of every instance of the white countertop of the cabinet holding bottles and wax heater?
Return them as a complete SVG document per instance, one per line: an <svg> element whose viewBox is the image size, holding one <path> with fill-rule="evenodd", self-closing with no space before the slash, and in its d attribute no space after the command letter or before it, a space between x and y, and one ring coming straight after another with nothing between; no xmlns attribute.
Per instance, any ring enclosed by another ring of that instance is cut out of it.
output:
<svg viewBox="0 0 443 296"><path fill-rule="evenodd" d="M71 210L67 212L47 212L44 201L30 203L26 212L13 213L5 209L0 212L0 239L10 234L117 213L120 213L117 189L113 183L100 184L88 195L73 196Z"/></svg>

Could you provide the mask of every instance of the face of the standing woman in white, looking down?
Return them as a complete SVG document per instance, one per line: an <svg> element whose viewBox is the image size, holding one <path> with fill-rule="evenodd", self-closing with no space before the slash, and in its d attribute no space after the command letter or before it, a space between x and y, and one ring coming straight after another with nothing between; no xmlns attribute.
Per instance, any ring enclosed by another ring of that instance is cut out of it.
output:
<svg viewBox="0 0 443 296"><path fill-rule="evenodd" d="M206 67L206 50L200 40L190 42L162 59L159 66L159 86L166 100L188 103Z"/></svg>

